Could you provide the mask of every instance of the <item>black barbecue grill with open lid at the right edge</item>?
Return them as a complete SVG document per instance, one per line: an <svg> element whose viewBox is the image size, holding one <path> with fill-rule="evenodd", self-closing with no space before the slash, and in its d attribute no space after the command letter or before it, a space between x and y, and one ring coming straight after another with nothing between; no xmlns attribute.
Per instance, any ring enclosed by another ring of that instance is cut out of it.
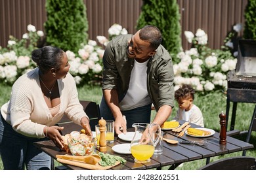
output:
<svg viewBox="0 0 256 183"><path fill-rule="evenodd" d="M233 102L230 130L234 129L237 103L256 103L256 41L238 42L238 62L234 71L228 72L226 122L230 101Z"/></svg>

